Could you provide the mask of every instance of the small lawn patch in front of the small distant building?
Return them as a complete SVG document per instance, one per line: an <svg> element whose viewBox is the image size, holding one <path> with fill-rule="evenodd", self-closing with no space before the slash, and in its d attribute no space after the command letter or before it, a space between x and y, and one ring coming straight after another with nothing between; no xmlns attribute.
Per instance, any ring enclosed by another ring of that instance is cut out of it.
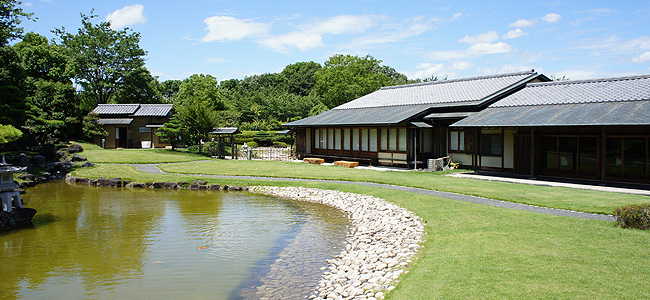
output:
<svg viewBox="0 0 650 300"><path fill-rule="evenodd" d="M121 163L121 164L160 164L172 162L190 162L211 159L209 157L190 154L181 151L166 149L102 149L101 147L85 142L80 144L84 151L78 153L94 163Z"/></svg>

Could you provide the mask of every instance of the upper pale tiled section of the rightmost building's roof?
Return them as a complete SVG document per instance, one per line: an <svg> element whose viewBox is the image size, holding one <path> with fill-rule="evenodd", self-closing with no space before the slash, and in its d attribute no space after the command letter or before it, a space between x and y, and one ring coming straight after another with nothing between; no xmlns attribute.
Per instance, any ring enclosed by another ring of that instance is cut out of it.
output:
<svg viewBox="0 0 650 300"><path fill-rule="evenodd" d="M529 83L490 107L620 102L650 99L650 75Z"/></svg>

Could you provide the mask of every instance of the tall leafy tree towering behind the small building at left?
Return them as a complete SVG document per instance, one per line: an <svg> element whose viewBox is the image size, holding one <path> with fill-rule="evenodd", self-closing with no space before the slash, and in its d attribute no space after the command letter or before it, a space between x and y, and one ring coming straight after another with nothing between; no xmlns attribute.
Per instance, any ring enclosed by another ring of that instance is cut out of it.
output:
<svg viewBox="0 0 650 300"><path fill-rule="evenodd" d="M54 33L73 54L75 81L95 96L96 104L104 104L115 99L132 72L144 67L146 51L140 48L139 33L113 30L110 22L93 24L96 17L81 14L77 34L65 28Z"/></svg>

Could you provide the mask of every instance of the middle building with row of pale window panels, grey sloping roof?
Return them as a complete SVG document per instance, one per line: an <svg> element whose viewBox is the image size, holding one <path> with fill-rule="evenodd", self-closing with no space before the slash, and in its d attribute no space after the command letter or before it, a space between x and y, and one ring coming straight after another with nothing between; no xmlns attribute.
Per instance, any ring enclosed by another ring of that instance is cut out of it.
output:
<svg viewBox="0 0 650 300"><path fill-rule="evenodd" d="M451 123L528 83L545 81L546 76L531 70L383 87L283 126L295 132L299 157L421 167L426 159L471 148L474 140L463 131L450 132Z"/></svg>

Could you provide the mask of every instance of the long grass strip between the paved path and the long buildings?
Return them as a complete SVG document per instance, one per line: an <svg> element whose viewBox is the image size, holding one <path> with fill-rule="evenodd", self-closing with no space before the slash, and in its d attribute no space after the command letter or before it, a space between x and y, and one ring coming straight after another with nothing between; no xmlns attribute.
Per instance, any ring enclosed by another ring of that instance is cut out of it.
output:
<svg viewBox="0 0 650 300"><path fill-rule="evenodd" d="M602 214L611 214L614 209L624 205L650 203L650 197L647 196L445 176L449 172L378 172L338 166L249 160L212 160L160 165L159 168L169 173L181 174L268 176L396 184Z"/></svg>

